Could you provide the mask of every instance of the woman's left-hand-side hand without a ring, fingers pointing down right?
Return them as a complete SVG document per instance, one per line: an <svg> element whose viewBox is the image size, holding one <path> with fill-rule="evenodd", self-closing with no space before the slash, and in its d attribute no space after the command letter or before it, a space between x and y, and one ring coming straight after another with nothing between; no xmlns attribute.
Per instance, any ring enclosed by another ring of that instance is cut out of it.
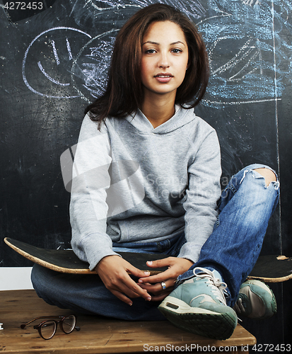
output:
<svg viewBox="0 0 292 354"><path fill-rule="evenodd" d="M150 273L135 268L122 257L104 257L96 265L95 271L103 280L105 287L126 304L132 305L132 300L129 297L144 297L147 301L151 300L151 295L148 294L147 290L137 285L128 272L137 278L147 277Z"/></svg>

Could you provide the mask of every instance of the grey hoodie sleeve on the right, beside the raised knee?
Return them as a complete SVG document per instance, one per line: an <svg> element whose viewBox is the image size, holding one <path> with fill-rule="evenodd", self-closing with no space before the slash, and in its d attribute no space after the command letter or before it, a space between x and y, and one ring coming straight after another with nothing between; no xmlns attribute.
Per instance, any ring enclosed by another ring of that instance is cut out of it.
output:
<svg viewBox="0 0 292 354"><path fill-rule="evenodd" d="M218 215L216 203L221 195L221 154L213 128L203 139L188 174L189 187L184 202L187 242L182 246L179 257L195 263L203 244L213 231Z"/></svg>

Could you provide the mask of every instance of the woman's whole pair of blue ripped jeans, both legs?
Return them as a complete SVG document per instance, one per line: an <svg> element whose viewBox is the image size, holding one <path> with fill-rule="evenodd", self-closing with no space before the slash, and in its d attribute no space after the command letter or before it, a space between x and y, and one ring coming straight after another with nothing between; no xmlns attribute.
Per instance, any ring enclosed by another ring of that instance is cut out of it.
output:
<svg viewBox="0 0 292 354"><path fill-rule="evenodd" d="M240 285L257 261L269 217L279 200L279 182L267 187L264 177L252 171L259 168L269 169L260 164L250 165L230 179L218 202L219 215L214 231L202 247L199 261L177 278L177 286L194 277L193 269L197 266L218 270L228 285L228 304L233 306ZM185 237L181 234L172 241L148 244L148 248L146 244L135 244L135 249L127 249L133 245L119 244L119 247L127 247L115 248L115 251L163 252L175 256L184 243ZM34 265L32 282L39 297L61 308L132 321L165 319L158 312L157 302L135 298L129 307L112 295L95 275L62 274Z"/></svg>

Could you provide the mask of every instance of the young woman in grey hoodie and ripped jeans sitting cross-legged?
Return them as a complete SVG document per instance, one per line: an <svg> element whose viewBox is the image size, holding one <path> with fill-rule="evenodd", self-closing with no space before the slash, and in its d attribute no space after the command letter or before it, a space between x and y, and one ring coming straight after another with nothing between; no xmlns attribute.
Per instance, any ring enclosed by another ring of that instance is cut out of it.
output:
<svg viewBox="0 0 292 354"><path fill-rule="evenodd" d="M279 182L267 166L248 166L217 206L218 138L194 113L208 76L204 42L175 8L142 8L119 31L105 93L86 108L71 190L71 244L99 277L35 265L33 285L49 304L129 320L164 319L162 312L218 339L233 333L237 300L247 316L255 316L255 299L257 317L273 314L269 288L242 283ZM150 276L117 251L164 253L148 266L167 270Z"/></svg>

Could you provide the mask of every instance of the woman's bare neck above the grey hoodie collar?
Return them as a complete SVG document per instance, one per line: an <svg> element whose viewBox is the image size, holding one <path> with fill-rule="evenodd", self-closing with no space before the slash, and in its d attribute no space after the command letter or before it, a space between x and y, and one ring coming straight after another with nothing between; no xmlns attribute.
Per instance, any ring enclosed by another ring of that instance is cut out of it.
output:
<svg viewBox="0 0 292 354"><path fill-rule="evenodd" d="M156 128L175 114L175 95L144 97L141 111L153 127Z"/></svg>

